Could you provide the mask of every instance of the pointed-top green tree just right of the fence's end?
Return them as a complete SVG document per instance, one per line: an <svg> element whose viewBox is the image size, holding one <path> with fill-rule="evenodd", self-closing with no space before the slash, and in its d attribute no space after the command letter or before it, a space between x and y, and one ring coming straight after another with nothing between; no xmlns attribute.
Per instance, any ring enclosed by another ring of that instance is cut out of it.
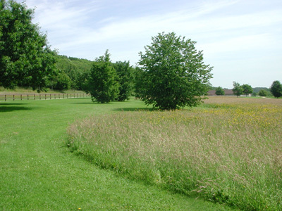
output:
<svg viewBox="0 0 282 211"><path fill-rule="evenodd" d="M106 50L105 56L100 56L94 61L85 79L83 89L87 94L91 94L93 102L109 103L118 97L118 87L116 70Z"/></svg>

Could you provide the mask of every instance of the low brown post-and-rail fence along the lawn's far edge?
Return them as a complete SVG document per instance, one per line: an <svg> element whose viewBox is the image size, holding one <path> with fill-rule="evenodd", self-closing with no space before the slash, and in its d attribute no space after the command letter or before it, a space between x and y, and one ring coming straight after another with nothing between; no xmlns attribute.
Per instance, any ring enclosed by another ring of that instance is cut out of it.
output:
<svg viewBox="0 0 282 211"><path fill-rule="evenodd" d="M51 100L63 98L88 98L89 94L0 94L0 101Z"/></svg>

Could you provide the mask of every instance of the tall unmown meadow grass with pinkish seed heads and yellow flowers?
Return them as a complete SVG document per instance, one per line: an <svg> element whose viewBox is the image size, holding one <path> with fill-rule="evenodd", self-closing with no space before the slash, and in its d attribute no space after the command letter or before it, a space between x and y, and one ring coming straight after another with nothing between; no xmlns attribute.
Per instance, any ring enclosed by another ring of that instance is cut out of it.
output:
<svg viewBox="0 0 282 211"><path fill-rule="evenodd" d="M68 146L101 167L188 196L282 210L281 102L211 98L193 110L93 116L68 128Z"/></svg>

